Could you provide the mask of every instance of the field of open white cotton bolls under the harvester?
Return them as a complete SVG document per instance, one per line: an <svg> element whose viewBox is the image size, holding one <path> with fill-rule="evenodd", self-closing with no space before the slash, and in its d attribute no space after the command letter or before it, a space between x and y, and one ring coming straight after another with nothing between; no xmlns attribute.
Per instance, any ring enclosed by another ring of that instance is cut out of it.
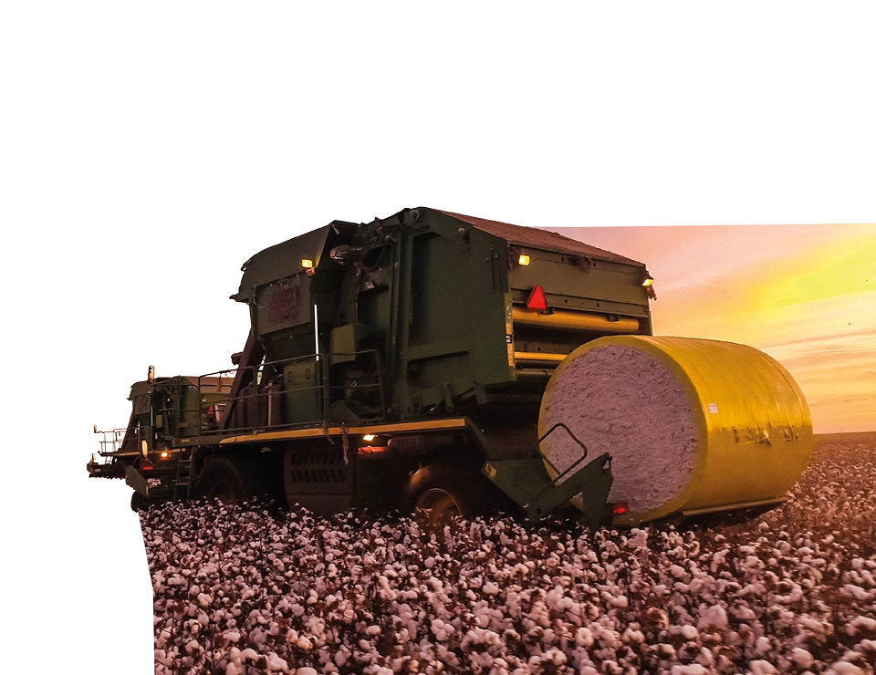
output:
<svg viewBox="0 0 876 675"><path fill-rule="evenodd" d="M872 673L876 434L753 519L589 533L263 505L141 512L156 673Z"/></svg>

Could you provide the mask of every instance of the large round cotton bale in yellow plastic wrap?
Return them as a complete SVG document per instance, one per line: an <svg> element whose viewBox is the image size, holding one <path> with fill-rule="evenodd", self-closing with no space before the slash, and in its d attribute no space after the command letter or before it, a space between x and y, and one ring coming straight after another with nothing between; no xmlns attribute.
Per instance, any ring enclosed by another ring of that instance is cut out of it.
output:
<svg viewBox="0 0 876 675"><path fill-rule="evenodd" d="M583 345L547 384L539 433L558 422L590 459L610 453L609 502L630 510L618 524L781 498L812 453L808 405L787 370L717 340L615 336ZM561 428L541 452L552 476L582 454Z"/></svg>

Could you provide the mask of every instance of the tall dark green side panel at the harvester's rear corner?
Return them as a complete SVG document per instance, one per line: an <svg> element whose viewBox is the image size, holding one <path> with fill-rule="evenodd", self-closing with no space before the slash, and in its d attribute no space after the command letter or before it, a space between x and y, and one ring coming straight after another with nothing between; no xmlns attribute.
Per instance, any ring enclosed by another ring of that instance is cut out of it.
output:
<svg viewBox="0 0 876 675"><path fill-rule="evenodd" d="M507 244L440 212L401 234L390 298L392 393L402 419L513 381L506 346Z"/></svg>

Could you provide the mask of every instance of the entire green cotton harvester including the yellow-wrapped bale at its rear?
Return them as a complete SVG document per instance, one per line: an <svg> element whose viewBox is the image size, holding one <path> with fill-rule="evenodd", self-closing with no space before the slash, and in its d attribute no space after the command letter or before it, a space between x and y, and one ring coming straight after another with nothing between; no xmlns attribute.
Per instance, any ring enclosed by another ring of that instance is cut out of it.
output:
<svg viewBox="0 0 876 675"><path fill-rule="evenodd" d="M531 522L571 504L637 524L781 502L812 452L800 389L754 348L653 337L652 281L464 213L330 221L245 261L233 367L134 381L89 475L140 504L266 494L433 524L515 504Z"/></svg>

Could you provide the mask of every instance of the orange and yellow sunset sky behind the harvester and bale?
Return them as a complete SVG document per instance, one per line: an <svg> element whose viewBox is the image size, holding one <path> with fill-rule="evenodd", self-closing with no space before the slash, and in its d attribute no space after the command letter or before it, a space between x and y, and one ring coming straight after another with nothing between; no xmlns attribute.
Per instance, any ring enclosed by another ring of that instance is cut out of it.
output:
<svg viewBox="0 0 876 675"><path fill-rule="evenodd" d="M762 349L816 433L876 431L876 224L565 227L648 266L654 334Z"/></svg>

